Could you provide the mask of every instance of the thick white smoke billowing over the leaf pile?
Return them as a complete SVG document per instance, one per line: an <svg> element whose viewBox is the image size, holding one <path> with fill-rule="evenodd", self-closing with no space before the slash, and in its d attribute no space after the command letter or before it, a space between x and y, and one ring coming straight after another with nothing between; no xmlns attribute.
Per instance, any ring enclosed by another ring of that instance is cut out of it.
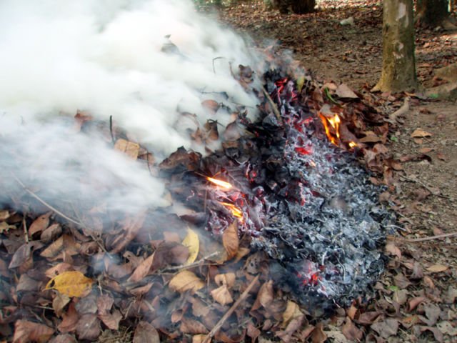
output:
<svg viewBox="0 0 457 343"><path fill-rule="evenodd" d="M231 73L231 64L255 63L243 39L198 14L190 0L4 0L0 50L7 196L23 192L16 177L53 204L83 194L114 210L161 206L162 182L99 135L74 130L76 110L100 121L112 116L163 157L179 146L203 150L189 129L207 119L229 122L201 106L214 94L252 115L256 106Z"/></svg>

